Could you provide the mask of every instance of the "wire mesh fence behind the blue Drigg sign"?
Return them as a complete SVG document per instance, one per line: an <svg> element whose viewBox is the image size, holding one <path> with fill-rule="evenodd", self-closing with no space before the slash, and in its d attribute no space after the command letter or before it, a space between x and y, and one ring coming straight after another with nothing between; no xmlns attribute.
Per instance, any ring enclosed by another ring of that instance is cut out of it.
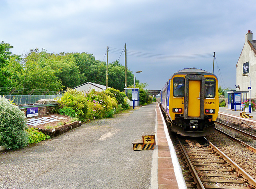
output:
<svg viewBox="0 0 256 189"><path fill-rule="evenodd" d="M0 95L1 96L1 95ZM7 99L13 100L17 105L20 104L33 104L40 99L54 99L56 97L61 98L62 94L58 95L7 95L1 96Z"/></svg>

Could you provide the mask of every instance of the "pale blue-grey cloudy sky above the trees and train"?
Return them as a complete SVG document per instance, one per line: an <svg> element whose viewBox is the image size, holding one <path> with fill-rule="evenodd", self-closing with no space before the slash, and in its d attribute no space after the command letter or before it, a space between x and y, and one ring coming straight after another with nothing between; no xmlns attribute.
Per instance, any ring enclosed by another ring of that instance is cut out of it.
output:
<svg viewBox="0 0 256 189"><path fill-rule="evenodd" d="M200 68L222 88L235 88L245 34L256 32L254 0L0 0L0 40L25 56L87 52L119 60L149 90L161 90L175 72ZM255 39L253 37L253 39Z"/></svg>

